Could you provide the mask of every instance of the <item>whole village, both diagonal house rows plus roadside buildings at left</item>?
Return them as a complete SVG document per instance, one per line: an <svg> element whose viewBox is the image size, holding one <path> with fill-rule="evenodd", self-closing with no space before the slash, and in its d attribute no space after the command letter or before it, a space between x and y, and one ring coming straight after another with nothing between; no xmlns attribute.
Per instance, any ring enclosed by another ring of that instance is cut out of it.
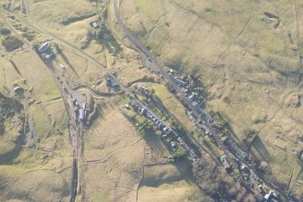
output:
<svg viewBox="0 0 303 202"><path fill-rule="evenodd" d="M43 45L38 49L38 52L43 60L51 61L55 58L54 53L52 53L50 43L43 43ZM149 61L151 62L151 59L149 59ZM64 71L64 66L60 66ZM162 79L165 80L166 78L167 80L167 77L163 75L163 72L157 73ZM189 85L191 82L190 78L186 77L186 81L184 81L182 80L181 74L172 69L169 69L166 72L166 75L170 78L170 82L174 82L176 86L175 88L170 87L170 91L175 94L178 91L181 91L183 93L183 98L189 102L190 106L193 107L187 107L188 110L185 111L189 119L194 123L198 130L204 131L204 134L209 137L209 139L212 139L214 145L220 146L220 148L224 150L224 155L218 157L222 166L231 174L234 170L238 170L241 173L243 180L249 185L249 187L251 187L253 192L256 193L256 199L258 201L280 201L279 196L277 196L275 191L265 185L266 183L264 183L253 168L250 167L248 154L239 148L231 137L222 133L220 131L220 124L218 124L210 114L203 110L201 105L204 101L201 99L201 96L199 96L199 92L191 89L191 86ZM63 83L63 79L60 78L60 76L57 76L57 79L59 82ZM106 81L109 89L119 91L119 88L122 87L115 78L115 72L106 76ZM82 136L82 130L84 129L87 120L87 105L81 96L79 96L78 92L67 89L65 85L63 86L63 90L67 96L69 109L71 111L70 114L74 120L74 123L71 123L71 125L74 124L73 128L80 131L71 132L71 136L74 136L71 137L74 141L74 152L78 152L80 147L79 141L82 138L79 136ZM155 125L156 130L162 131L162 139L166 141L166 144L171 150L172 155L168 157L171 162L175 162L175 160L179 160L180 158L185 158L185 153L187 153L189 159L193 161L201 155L206 155L198 150L198 147L194 145L194 142L192 142L191 139L186 137L184 134L180 135L178 131L175 131L166 120L159 118L156 112L148 107L148 103L140 101L139 97L144 97L149 94L150 90L148 88L140 86L137 91L132 90L131 93L130 90L125 87L122 87L122 90L128 92L128 97L130 99L125 108L129 111L135 111L140 116L145 117ZM78 157L78 153L76 156ZM224 198L222 198L222 201L225 201Z"/></svg>

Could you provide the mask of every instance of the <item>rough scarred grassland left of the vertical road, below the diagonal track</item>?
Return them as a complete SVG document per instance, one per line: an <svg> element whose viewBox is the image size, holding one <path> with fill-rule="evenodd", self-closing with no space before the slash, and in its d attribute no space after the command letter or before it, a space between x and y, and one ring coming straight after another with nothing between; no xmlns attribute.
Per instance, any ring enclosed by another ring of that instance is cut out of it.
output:
<svg viewBox="0 0 303 202"><path fill-rule="evenodd" d="M5 120L0 134L0 201L67 201L72 154L61 93L27 45L11 53L0 50L0 92L23 106ZM24 91L15 94L16 86Z"/></svg>

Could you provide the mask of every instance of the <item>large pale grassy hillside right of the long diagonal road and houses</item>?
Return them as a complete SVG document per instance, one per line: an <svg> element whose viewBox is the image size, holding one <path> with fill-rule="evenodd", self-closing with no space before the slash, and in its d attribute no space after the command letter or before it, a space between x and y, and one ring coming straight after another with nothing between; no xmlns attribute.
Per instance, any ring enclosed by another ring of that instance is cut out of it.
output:
<svg viewBox="0 0 303 202"><path fill-rule="evenodd" d="M200 77L208 111L269 175L301 188L301 2L123 0L119 12L162 63ZM258 134L252 142L248 131Z"/></svg>

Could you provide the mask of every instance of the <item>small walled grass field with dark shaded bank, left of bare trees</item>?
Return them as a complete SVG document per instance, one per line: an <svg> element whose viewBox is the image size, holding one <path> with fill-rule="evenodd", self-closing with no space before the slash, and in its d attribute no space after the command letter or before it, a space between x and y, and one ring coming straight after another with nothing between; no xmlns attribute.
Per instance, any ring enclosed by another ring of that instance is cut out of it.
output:
<svg viewBox="0 0 303 202"><path fill-rule="evenodd" d="M186 162L144 168L138 201L199 201L203 195L193 183Z"/></svg>

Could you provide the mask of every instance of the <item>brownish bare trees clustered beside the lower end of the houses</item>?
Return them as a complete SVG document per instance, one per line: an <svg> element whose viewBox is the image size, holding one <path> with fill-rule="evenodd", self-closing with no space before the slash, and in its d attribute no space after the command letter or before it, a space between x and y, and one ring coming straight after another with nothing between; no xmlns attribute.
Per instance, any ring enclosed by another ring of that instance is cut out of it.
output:
<svg viewBox="0 0 303 202"><path fill-rule="evenodd" d="M256 201L223 167L218 167L213 159L206 155L194 161L192 171L198 186L209 197L223 197L232 201Z"/></svg>

